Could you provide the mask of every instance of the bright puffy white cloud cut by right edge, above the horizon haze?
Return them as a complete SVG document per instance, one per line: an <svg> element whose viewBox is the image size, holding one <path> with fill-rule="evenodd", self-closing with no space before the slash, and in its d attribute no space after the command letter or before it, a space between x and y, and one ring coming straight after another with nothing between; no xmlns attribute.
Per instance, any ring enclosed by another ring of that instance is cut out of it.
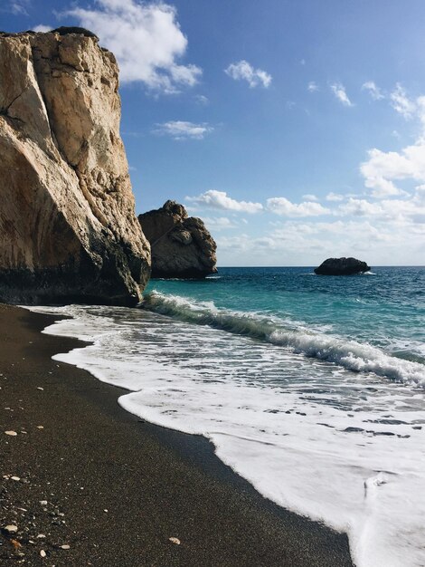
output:
<svg viewBox="0 0 425 567"><path fill-rule="evenodd" d="M370 149L369 159L360 166L364 185L373 189L373 197L403 195L405 191L393 183L396 179L425 181L425 144L417 144L401 149L401 152Z"/></svg>

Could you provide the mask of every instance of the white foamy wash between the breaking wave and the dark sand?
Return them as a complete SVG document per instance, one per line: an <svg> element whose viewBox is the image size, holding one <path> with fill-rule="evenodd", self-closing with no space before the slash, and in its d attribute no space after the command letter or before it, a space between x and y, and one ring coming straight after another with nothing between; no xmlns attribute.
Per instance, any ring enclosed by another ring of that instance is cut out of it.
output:
<svg viewBox="0 0 425 567"><path fill-rule="evenodd" d="M262 495L348 533L357 567L425 565L423 389L269 342L125 308L68 306L61 360L140 418L211 439Z"/></svg>

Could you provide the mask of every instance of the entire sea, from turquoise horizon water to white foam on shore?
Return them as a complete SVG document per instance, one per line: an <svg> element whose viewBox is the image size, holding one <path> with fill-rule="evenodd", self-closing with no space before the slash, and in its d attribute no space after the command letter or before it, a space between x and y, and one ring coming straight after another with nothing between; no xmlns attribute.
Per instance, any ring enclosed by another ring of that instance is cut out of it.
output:
<svg viewBox="0 0 425 567"><path fill-rule="evenodd" d="M357 567L425 565L425 267L220 268L137 308L37 307L55 360L200 434L264 496L348 534Z"/></svg>

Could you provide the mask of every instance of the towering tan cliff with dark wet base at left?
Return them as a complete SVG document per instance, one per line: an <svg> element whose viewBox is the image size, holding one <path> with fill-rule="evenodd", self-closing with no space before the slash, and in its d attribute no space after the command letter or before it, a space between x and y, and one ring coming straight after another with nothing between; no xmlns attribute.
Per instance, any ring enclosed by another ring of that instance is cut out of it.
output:
<svg viewBox="0 0 425 567"><path fill-rule="evenodd" d="M3 302L127 305L149 278L117 62L76 29L0 34Z"/></svg>

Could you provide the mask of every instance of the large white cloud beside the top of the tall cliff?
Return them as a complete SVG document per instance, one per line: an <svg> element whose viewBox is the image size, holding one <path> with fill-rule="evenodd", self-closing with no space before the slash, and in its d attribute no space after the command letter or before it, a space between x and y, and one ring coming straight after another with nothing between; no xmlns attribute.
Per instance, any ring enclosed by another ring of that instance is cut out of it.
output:
<svg viewBox="0 0 425 567"><path fill-rule="evenodd" d="M61 15L99 35L117 56L122 82L143 82L147 88L173 93L191 87L202 70L180 65L187 38L176 21L176 10L162 2L96 0L96 8L74 7Z"/></svg>

